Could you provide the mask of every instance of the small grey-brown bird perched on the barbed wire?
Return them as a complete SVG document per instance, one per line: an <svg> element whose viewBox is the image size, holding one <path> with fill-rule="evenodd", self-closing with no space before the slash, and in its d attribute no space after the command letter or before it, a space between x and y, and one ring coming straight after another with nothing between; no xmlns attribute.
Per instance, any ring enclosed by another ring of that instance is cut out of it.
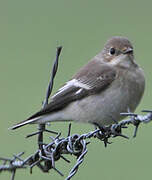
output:
<svg viewBox="0 0 152 180"><path fill-rule="evenodd" d="M135 111L144 89L144 71L135 61L132 43L126 37L113 36L48 105L10 129L57 121L108 126L122 120L122 112Z"/></svg>

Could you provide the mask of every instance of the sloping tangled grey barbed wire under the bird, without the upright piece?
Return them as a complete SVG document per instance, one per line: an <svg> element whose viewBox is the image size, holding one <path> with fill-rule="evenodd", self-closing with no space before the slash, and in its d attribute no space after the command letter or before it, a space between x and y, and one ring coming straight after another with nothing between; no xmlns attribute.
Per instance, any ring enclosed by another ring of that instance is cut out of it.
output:
<svg viewBox="0 0 152 180"><path fill-rule="evenodd" d="M144 111L145 112L145 111ZM17 169L25 169L30 167L31 169L35 166L39 167L43 172L49 172L50 169L54 169L58 172L61 176L63 173L59 171L55 163L60 159L64 159L65 162L69 163L70 161L64 157L64 154L74 155L77 158L77 162L74 167L69 172L69 175L65 180L70 180L78 171L80 164L83 162L84 157L87 150L87 142L90 138L98 138L100 141L106 143L107 146L108 140L110 138L116 138L117 136L121 136L126 138L127 136L122 134L122 130L124 128L129 127L130 124L136 127L142 123L149 123L152 121L152 111L148 112L146 115L137 115L133 113L122 113L124 116L130 116L127 120L122 120L119 123L113 124L108 127L102 127L100 129L95 129L94 131L88 132L86 134L73 134L68 135L67 137L61 137L61 133L59 133L56 137L52 138L52 142L48 144L43 144L43 152L38 149L33 155L29 156L25 160L21 159L21 156L24 153L19 153L18 155L14 155L13 158L0 158L0 161L3 162L0 165L0 172L3 171L10 171L12 172L11 179L13 180L15 177L15 172ZM137 130L136 130L137 133ZM105 140L106 139L106 140ZM42 166L42 163L45 165ZM32 172L32 170L31 170Z"/></svg>

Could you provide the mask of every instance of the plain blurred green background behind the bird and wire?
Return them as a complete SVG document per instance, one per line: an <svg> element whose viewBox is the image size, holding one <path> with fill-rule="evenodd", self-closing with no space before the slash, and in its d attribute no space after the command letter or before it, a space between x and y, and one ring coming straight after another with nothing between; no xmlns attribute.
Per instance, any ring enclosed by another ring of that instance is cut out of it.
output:
<svg viewBox="0 0 152 180"><path fill-rule="evenodd" d="M151 109L151 8L150 0L0 0L0 156L11 157L25 151L27 157L35 152L36 137L25 136L35 131L36 125L13 132L8 127L41 108L59 45L63 51L53 91L96 55L109 37L127 36L146 76L146 91L136 112ZM66 135L67 127L68 123L56 123L51 129ZM72 133L92 129L91 125L73 123ZM73 180L151 179L151 124L140 127L136 139L132 138L132 127L124 133L130 140L112 139L114 143L106 149L103 143L92 140ZM74 162L66 164L60 160L57 168L66 177ZM0 179L10 176L3 172ZM15 179L42 178L64 179L53 170L44 174L37 168L32 175L29 170L18 170Z"/></svg>

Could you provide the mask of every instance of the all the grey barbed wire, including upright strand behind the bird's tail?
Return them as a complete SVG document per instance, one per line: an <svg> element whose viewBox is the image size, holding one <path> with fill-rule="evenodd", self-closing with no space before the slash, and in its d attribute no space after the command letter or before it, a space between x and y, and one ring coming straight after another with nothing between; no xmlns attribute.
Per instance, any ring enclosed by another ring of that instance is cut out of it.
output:
<svg viewBox="0 0 152 180"><path fill-rule="evenodd" d="M44 108L48 104L48 99L52 92L54 78L58 69L58 60L61 53L62 47L57 48L56 59L51 71L51 78L48 85L46 98L43 101L42 107ZM0 173L3 171L10 171L12 173L11 180L15 179L15 173L18 169L30 168L30 173L32 169L37 166L41 169L42 172L49 172L50 169L54 169L58 174L63 176L63 173L56 168L56 161L63 159L65 162L70 163L70 161L64 157L64 155L74 155L77 159L76 164L69 172L66 180L70 180L78 171L79 166L84 161L84 157L88 152L87 146L90 143L88 141L90 138L97 138L102 141L107 147L108 144L111 144L109 141L110 138L116 138L118 136L128 139L128 136L122 133L124 128L128 128L130 124L135 127L133 137L136 137L137 130L140 124L149 123L152 121L152 111L144 110L145 115L138 115L131 113L129 110L127 113L121 113L122 116L129 117L127 120L122 120L117 122L114 120L114 124L109 126L99 126L95 124L95 130L88 132L86 134L73 134L71 135L71 124L69 124L67 137L62 137L61 133L50 131L46 129L45 124L40 124L38 126L38 131L32 134L29 134L27 138L34 135L38 135L38 150L35 153L22 159L24 152L21 152L17 155L13 155L13 158L3 158L0 157L2 165L0 165ZM51 142L44 143L43 136L44 132L53 133L56 136L50 136Z"/></svg>

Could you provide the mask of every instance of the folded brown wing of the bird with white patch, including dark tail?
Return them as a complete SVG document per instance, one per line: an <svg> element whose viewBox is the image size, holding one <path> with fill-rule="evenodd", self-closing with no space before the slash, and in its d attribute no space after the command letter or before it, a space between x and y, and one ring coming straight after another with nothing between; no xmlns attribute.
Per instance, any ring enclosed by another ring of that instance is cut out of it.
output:
<svg viewBox="0 0 152 180"><path fill-rule="evenodd" d="M38 117L61 110L73 101L102 92L115 78L116 71L111 66L90 61L51 97L50 103L45 108L11 129L33 123Z"/></svg>

